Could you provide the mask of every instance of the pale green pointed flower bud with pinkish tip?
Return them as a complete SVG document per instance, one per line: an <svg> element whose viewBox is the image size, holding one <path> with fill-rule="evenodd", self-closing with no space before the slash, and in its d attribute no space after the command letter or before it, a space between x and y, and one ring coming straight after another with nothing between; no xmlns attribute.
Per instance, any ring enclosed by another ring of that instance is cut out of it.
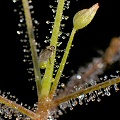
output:
<svg viewBox="0 0 120 120"><path fill-rule="evenodd" d="M74 28L78 30L87 26L92 21L98 8L99 8L99 5L98 3L96 3L89 9L83 9L77 12L73 18Z"/></svg>

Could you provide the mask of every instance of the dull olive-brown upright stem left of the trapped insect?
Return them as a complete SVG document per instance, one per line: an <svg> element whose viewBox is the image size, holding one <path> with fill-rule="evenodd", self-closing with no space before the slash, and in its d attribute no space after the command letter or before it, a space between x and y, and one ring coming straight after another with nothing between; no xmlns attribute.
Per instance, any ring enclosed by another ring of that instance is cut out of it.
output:
<svg viewBox="0 0 120 120"><path fill-rule="evenodd" d="M33 32L33 24L31 19L31 14L29 10L29 3L28 0L22 0L25 19L26 19L26 25L27 25L27 31L28 31L28 37L31 47L31 53L32 53L32 61L34 66L34 72L35 72L35 82L37 86L37 94L38 97L40 96L40 89L41 89L41 73L38 65L38 56L36 51L36 45L35 45L35 36Z"/></svg>

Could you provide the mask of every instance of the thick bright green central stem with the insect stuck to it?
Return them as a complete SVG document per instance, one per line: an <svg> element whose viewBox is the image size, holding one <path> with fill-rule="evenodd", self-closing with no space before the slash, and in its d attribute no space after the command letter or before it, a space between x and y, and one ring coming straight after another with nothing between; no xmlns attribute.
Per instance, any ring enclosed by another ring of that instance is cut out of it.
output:
<svg viewBox="0 0 120 120"><path fill-rule="evenodd" d="M59 0L59 2L58 2L56 17L55 17L55 21L54 21L54 28L52 31L50 45L53 45L55 47L55 49L57 46L57 40L58 40L58 35L59 35L60 23L61 23L61 19L62 19L64 2L65 2L65 0ZM51 63L49 61L47 63L45 74L42 79L41 97L48 96L48 94L50 92L51 80L52 80L52 75L53 75L53 70L54 70L55 54L56 54L56 50L51 57Z"/></svg>

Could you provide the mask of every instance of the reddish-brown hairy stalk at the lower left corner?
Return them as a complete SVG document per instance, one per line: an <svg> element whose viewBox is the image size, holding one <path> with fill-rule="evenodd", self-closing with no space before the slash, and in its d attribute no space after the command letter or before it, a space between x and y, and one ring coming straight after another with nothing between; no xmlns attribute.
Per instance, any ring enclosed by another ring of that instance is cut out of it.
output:
<svg viewBox="0 0 120 120"><path fill-rule="evenodd" d="M27 115L28 117L30 117L31 119L38 119L39 115L35 114L34 112L26 109L25 107L22 107L21 105L18 105L17 103L10 101L2 96L0 96L0 103L3 103L13 109L18 110L19 112L21 112L22 114Z"/></svg>

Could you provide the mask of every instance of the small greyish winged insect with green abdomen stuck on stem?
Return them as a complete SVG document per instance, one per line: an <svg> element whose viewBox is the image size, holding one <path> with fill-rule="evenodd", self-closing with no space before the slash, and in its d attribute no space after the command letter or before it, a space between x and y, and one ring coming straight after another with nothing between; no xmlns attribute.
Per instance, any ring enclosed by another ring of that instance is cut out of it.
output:
<svg viewBox="0 0 120 120"><path fill-rule="evenodd" d="M41 50L39 59L38 59L39 66L41 69L46 68L47 61L50 60L54 50L55 50L55 47L53 45L47 46L45 49Z"/></svg>

